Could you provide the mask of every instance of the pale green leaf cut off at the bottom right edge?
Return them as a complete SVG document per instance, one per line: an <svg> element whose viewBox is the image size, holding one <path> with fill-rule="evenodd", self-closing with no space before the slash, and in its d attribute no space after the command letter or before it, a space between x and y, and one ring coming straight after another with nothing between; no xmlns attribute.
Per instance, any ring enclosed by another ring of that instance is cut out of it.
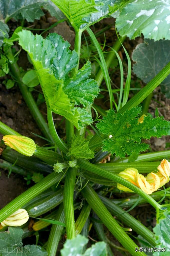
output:
<svg viewBox="0 0 170 256"><path fill-rule="evenodd" d="M156 248L166 248L166 251L156 251L153 253L154 256L168 256L170 251L170 215L167 215L166 218L161 219L159 223L153 228L153 231L156 236Z"/></svg>

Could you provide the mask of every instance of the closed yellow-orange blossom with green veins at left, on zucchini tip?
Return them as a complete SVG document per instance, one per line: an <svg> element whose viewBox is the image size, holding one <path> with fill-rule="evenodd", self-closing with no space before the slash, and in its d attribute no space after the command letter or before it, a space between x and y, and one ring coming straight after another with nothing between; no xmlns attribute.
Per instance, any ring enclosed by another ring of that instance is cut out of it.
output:
<svg viewBox="0 0 170 256"><path fill-rule="evenodd" d="M36 150L35 142L32 139L25 136L5 135L3 137L3 141L5 145L13 148L14 150L26 156L32 156Z"/></svg>

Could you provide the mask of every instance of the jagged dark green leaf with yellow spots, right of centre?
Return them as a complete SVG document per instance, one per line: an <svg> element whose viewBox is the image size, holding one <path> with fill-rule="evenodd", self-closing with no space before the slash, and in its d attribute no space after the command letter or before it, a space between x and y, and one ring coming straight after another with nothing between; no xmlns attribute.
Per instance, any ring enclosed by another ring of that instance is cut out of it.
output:
<svg viewBox="0 0 170 256"><path fill-rule="evenodd" d="M150 137L161 137L170 134L170 122L161 118L153 118L142 115L137 118L141 108L131 108L123 114L110 110L106 117L97 123L98 130L109 135L103 141L103 151L109 151L119 157L132 155L133 152L139 154L145 151L149 145L141 143L141 139Z"/></svg>

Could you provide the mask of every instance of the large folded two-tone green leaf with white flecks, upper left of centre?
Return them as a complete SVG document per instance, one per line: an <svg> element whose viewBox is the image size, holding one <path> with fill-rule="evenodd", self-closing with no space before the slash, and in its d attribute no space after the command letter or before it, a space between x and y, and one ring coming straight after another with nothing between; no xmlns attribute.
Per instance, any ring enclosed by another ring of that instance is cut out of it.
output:
<svg viewBox="0 0 170 256"><path fill-rule="evenodd" d="M88 79L91 66L87 62L75 77L69 72L77 65L77 54L69 49L70 44L56 33L46 39L22 30L19 44L25 49L37 71L44 97L51 111L64 116L77 129L92 123L92 116L85 109L74 107L93 103L99 92L95 80Z"/></svg>

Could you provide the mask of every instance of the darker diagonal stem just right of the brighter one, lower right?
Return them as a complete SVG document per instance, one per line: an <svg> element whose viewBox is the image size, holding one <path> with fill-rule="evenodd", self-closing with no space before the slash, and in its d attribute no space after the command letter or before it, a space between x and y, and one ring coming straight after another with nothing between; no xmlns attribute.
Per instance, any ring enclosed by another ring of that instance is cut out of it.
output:
<svg viewBox="0 0 170 256"><path fill-rule="evenodd" d="M148 228L146 228L142 223L124 211L121 207L114 204L108 198L98 195L101 201L105 204L107 209L111 214L116 215L116 217L125 223L129 228L140 234L143 238L145 238L148 242L150 242L154 247L156 246L154 233L152 233Z"/></svg>

